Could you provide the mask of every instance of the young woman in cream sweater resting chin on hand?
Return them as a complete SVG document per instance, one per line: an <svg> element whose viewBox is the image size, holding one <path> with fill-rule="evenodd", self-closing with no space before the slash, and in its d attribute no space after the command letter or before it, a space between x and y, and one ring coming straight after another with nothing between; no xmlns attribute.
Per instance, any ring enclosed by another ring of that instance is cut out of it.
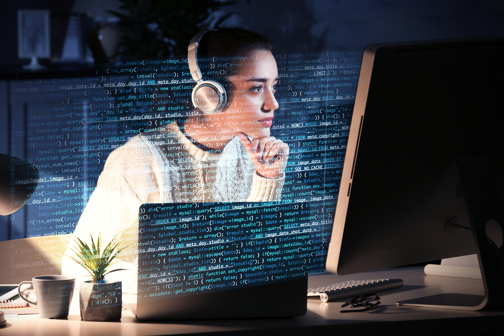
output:
<svg viewBox="0 0 504 336"><path fill-rule="evenodd" d="M198 58L226 60L218 63L223 72L205 76L225 88L225 107L216 113L195 109L190 117L142 133L114 150L74 235L84 240L89 232L101 232L104 242L119 235L121 245L134 252L138 210L144 203L280 200L289 147L270 135L278 108L271 49L268 39L247 30L206 32ZM117 268L135 272L113 276L123 281L126 293L136 291L137 265L131 255ZM82 273L69 258L62 263L64 274Z"/></svg>

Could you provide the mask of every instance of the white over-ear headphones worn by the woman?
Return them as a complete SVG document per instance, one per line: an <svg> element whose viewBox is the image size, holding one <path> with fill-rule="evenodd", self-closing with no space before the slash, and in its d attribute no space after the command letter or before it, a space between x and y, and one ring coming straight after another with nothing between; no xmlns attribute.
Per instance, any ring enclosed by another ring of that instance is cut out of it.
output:
<svg viewBox="0 0 504 336"><path fill-rule="evenodd" d="M187 47L187 62L191 76L197 82L193 89L193 105L205 113L217 113L221 111L227 103L227 95L224 87L215 81L204 81L198 65L198 46L203 34L193 37Z"/></svg>

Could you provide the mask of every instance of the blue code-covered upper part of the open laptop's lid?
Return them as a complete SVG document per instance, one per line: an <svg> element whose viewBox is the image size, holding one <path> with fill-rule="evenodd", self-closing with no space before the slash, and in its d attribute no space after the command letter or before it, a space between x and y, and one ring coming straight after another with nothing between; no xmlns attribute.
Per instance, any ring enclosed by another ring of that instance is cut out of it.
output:
<svg viewBox="0 0 504 336"><path fill-rule="evenodd" d="M309 203L144 204L138 295L154 301L300 280L319 245Z"/></svg>

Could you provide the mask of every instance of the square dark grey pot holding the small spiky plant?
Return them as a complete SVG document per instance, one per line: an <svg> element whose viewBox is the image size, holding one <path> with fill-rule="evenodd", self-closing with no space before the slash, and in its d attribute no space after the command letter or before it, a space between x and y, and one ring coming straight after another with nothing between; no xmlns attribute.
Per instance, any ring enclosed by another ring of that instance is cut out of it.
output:
<svg viewBox="0 0 504 336"><path fill-rule="evenodd" d="M122 312L122 282L82 282L79 302L84 321L119 320Z"/></svg>

